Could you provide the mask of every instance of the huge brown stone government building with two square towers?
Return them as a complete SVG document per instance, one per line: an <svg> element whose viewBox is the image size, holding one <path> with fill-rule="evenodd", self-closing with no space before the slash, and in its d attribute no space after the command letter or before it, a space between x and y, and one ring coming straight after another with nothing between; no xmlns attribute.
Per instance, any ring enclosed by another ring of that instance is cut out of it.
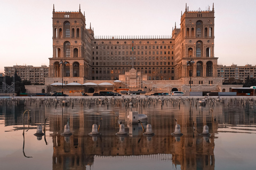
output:
<svg viewBox="0 0 256 170"><path fill-rule="evenodd" d="M171 36L94 36L85 15L57 12L53 6L53 57L46 84L118 80L134 68L145 81L222 84L214 56L214 7L181 13ZM190 82L191 78L191 82ZM163 81L165 80L165 81ZM166 81L167 80L167 81ZM125 82L126 84L126 82ZM215 90L218 90L216 88Z"/></svg>

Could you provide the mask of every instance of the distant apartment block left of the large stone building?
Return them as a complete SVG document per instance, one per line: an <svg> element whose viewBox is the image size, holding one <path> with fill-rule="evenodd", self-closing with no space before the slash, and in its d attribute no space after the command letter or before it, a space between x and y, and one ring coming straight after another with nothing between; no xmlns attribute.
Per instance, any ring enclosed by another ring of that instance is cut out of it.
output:
<svg viewBox="0 0 256 170"><path fill-rule="evenodd" d="M45 84L45 78L49 76L49 67L46 65L32 66L32 65L13 65L12 67L4 67L4 73L12 77L15 72L21 80L28 80L31 84Z"/></svg>

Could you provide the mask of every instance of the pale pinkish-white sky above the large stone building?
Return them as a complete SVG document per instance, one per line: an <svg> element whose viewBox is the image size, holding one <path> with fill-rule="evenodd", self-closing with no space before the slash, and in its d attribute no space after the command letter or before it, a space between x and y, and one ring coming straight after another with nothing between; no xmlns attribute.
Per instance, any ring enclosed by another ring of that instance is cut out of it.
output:
<svg viewBox="0 0 256 170"><path fill-rule="evenodd" d="M52 57L52 9L81 11L94 36L171 35L185 6L215 11L214 56L218 64L256 65L256 0L1 0L0 73L5 66L49 66Z"/></svg>

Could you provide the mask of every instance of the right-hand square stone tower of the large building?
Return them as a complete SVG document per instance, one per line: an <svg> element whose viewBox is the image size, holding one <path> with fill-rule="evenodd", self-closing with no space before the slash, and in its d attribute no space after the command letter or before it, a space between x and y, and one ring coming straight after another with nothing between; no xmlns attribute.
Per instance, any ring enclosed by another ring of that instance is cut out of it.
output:
<svg viewBox="0 0 256 170"><path fill-rule="evenodd" d="M181 12L180 29L172 32L175 42L175 79L183 84L217 84L217 57L214 57L214 7L206 11ZM189 61L194 61L189 63ZM215 82L214 82L215 81Z"/></svg>

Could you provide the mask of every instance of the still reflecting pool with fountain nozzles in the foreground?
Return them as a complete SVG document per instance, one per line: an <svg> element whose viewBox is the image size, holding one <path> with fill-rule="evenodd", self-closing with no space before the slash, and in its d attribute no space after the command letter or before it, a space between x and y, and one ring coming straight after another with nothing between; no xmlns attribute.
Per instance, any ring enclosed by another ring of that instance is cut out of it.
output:
<svg viewBox="0 0 256 170"><path fill-rule="evenodd" d="M255 101L0 97L1 169L254 169ZM136 112L147 121L130 122ZM155 135L143 134L148 124Z"/></svg>

